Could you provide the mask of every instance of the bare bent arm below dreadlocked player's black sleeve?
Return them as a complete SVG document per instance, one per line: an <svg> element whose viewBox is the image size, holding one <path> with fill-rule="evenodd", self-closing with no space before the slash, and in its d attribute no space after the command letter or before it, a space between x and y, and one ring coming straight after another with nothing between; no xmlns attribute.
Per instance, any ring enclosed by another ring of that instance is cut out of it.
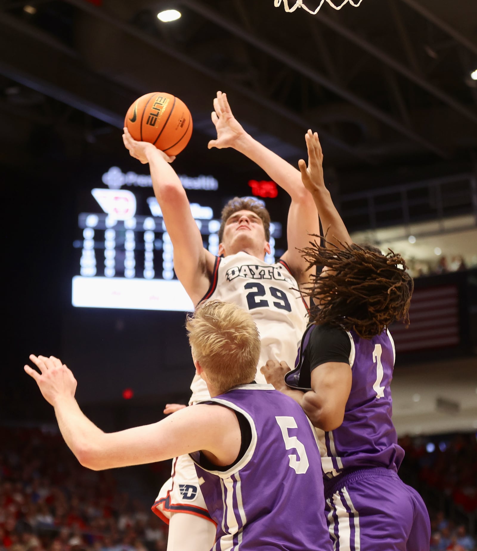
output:
<svg viewBox="0 0 477 551"><path fill-rule="evenodd" d="M352 384L349 364L330 361L311 371L311 392L303 396L301 407L317 428L330 431L343 423L344 409Z"/></svg>

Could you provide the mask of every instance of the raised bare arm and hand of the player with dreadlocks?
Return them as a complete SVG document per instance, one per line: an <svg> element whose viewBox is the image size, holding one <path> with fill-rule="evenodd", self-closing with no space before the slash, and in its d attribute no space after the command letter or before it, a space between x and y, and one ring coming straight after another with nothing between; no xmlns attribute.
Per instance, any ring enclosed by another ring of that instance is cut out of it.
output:
<svg viewBox="0 0 477 551"><path fill-rule="evenodd" d="M298 166L301 171L303 185L311 193L321 219L323 231L327 233L326 239L331 244L340 248L340 241L343 244L350 245L352 243L351 237L333 204L330 192L325 186L323 152L318 134L316 132L312 133L309 130L305 134L305 140L306 148L308 149L308 167L303 159L300 159Z"/></svg>

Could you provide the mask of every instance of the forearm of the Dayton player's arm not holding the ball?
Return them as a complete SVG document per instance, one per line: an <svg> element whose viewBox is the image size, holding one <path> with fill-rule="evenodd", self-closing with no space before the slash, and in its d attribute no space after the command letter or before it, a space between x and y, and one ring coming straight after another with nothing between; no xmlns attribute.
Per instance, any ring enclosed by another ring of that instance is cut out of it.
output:
<svg viewBox="0 0 477 551"><path fill-rule="evenodd" d="M276 153L257 142L250 134L245 134L235 144L234 149L243 153L264 170L268 176L285 190L293 201L309 198L308 191L301 183L300 171Z"/></svg>

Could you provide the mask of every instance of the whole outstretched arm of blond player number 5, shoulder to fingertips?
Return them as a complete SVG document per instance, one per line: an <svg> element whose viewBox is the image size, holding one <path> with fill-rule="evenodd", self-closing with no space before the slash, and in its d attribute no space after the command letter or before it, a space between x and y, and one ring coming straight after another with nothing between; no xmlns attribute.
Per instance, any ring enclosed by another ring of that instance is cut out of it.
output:
<svg viewBox="0 0 477 551"><path fill-rule="evenodd" d="M204 450L216 464L232 463L240 449L237 417L228 408L199 404L152 425L104 433L81 411L74 398L76 380L58 358L30 356L40 372L25 371L54 407L61 434L78 461L94 471L171 459Z"/></svg>

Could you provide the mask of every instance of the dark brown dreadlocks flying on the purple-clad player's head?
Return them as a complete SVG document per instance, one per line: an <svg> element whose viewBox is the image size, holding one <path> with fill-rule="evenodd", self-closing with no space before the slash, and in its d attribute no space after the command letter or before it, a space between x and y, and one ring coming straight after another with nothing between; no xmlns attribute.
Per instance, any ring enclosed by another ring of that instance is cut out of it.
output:
<svg viewBox="0 0 477 551"><path fill-rule="evenodd" d="M331 272L311 276L303 294L315 299L317 325L325 323L354 331L365 339L379 335L393 321L409 325L412 277L401 255L383 255L376 247L343 244L338 248L320 235L301 250L308 268L326 266Z"/></svg>

